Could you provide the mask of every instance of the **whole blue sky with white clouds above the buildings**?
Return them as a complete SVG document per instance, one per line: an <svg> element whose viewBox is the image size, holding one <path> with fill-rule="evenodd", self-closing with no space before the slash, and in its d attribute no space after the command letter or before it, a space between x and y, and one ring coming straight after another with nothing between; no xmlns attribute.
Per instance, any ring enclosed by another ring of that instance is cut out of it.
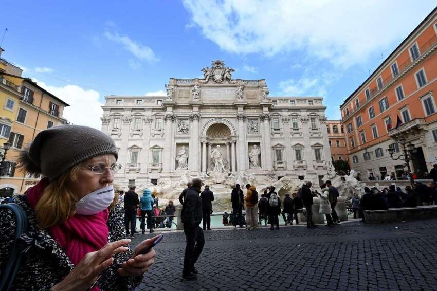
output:
<svg viewBox="0 0 437 291"><path fill-rule="evenodd" d="M163 94L215 59L270 96L339 105L437 5L385 1L21 1L2 4L2 57L100 127L105 95ZM3 31L2 31L3 33Z"/></svg>

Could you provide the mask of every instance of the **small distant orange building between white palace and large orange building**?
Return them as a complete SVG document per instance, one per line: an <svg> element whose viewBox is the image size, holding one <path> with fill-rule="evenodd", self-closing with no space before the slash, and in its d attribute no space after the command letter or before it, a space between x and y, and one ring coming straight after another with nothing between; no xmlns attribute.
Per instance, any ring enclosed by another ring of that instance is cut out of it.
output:
<svg viewBox="0 0 437 291"><path fill-rule="evenodd" d="M327 120L326 130L328 133L329 147L331 149L331 161L348 160L344 130L340 120Z"/></svg>

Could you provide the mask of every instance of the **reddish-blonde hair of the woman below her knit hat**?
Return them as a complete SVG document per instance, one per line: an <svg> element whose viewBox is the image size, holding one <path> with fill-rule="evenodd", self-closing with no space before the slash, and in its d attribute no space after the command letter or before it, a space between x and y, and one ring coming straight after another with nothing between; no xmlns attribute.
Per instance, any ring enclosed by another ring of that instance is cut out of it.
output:
<svg viewBox="0 0 437 291"><path fill-rule="evenodd" d="M62 224L75 214L79 199L71 191L69 184L78 181L80 168L81 164L65 171L44 189L43 195L35 206L35 215L40 227L47 228Z"/></svg>

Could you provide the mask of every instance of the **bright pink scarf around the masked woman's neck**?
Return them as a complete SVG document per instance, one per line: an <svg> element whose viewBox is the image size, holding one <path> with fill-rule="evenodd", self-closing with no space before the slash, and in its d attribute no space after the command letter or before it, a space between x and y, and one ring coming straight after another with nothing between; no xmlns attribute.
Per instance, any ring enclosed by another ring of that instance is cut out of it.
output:
<svg viewBox="0 0 437 291"><path fill-rule="evenodd" d="M33 209L48 184L48 178L43 178L27 191L26 199ZM108 216L108 209L94 215L75 214L66 222L49 227L48 231L76 266L85 254L99 250L107 243L109 228L106 222Z"/></svg>

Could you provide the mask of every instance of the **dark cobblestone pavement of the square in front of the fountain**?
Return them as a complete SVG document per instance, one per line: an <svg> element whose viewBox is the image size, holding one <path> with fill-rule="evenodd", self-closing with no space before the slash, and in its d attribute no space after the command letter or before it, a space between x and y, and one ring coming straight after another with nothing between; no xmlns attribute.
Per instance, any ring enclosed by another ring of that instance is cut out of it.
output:
<svg viewBox="0 0 437 291"><path fill-rule="evenodd" d="M185 281L185 235L166 233L137 290L437 290L436 239L437 219L212 230L205 232L197 281Z"/></svg>

